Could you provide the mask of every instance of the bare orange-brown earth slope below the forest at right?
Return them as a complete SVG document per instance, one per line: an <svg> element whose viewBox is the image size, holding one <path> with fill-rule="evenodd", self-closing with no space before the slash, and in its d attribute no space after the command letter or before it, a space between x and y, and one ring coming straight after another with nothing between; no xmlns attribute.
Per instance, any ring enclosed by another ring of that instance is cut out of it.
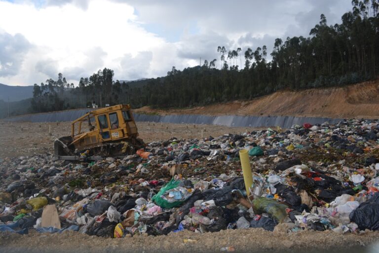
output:
<svg viewBox="0 0 379 253"><path fill-rule="evenodd" d="M190 109L136 109L138 113L204 115L292 115L330 118L378 118L379 80L344 87L277 91L253 100Z"/></svg>

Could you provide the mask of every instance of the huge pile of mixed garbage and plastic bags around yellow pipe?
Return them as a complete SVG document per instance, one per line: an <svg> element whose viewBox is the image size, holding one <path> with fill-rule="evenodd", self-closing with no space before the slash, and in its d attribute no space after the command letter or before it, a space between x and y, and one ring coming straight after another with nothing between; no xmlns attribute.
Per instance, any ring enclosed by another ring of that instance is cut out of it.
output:
<svg viewBox="0 0 379 253"><path fill-rule="evenodd" d="M123 159L0 160L0 231L379 230L379 121L152 142ZM249 151L247 194L239 151Z"/></svg>

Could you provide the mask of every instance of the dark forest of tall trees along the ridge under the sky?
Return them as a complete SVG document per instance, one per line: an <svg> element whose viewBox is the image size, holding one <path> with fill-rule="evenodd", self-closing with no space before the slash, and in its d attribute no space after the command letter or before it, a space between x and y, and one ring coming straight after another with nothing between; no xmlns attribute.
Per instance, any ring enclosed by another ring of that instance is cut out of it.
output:
<svg viewBox="0 0 379 253"><path fill-rule="evenodd" d="M80 79L77 87L61 73L56 81L34 84L31 112L48 112L106 104L133 108L179 108L237 99L251 99L280 89L341 86L378 78L379 0L353 0L341 23L320 21L308 37L277 38L272 51L257 48L215 48L219 57L202 66L135 82L114 81L104 68ZM269 54L269 56L268 56ZM269 59L269 60L268 60Z"/></svg>

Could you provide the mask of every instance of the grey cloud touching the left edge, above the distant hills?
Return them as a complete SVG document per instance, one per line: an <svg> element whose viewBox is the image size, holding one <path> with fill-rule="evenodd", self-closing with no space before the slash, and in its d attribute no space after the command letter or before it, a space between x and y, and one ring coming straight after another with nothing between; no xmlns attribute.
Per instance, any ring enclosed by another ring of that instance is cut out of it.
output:
<svg viewBox="0 0 379 253"><path fill-rule="evenodd" d="M0 77L17 75L31 46L21 34L0 33Z"/></svg>

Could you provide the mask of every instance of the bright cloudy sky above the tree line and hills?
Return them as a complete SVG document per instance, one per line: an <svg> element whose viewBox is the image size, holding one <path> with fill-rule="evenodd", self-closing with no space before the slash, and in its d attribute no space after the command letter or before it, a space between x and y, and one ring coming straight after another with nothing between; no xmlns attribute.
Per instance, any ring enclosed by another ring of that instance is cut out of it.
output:
<svg viewBox="0 0 379 253"><path fill-rule="evenodd" d="M309 36L323 13L340 23L350 0L0 0L0 83L77 85L99 69L114 80L165 76L227 50L272 51ZM237 61L238 65L240 61Z"/></svg>

